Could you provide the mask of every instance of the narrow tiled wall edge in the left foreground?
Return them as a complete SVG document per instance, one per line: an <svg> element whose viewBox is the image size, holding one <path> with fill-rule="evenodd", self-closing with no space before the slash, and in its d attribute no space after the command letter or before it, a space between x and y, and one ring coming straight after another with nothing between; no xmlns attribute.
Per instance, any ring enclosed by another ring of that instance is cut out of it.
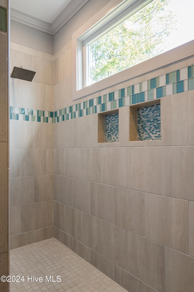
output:
<svg viewBox="0 0 194 292"><path fill-rule="evenodd" d="M0 0L0 275L9 274L8 23L8 1ZM8 284L0 281L0 291L8 292Z"/></svg>

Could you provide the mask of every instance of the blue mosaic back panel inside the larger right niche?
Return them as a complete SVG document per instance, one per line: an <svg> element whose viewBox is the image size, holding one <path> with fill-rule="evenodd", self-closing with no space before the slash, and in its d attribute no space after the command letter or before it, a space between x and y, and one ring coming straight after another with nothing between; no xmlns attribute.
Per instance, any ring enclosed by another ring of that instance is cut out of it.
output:
<svg viewBox="0 0 194 292"><path fill-rule="evenodd" d="M137 140L160 140L160 104L137 108Z"/></svg>

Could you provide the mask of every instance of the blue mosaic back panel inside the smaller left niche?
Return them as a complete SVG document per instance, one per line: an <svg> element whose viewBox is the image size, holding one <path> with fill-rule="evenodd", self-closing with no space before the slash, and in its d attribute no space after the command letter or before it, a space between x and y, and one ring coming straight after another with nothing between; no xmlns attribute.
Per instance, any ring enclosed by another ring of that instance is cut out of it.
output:
<svg viewBox="0 0 194 292"><path fill-rule="evenodd" d="M119 112L105 115L105 143L119 142Z"/></svg>

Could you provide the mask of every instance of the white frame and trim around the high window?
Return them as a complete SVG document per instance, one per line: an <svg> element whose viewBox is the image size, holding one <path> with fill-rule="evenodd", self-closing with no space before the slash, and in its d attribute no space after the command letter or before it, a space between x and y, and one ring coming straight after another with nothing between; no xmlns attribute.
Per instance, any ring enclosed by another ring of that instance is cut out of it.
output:
<svg viewBox="0 0 194 292"><path fill-rule="evenodd" d="M178 46L175 49L162 53L156 57L146 60L140 64L123 70L117 74L107 77L101 81L85 87L85 46L83 43L89 42L95 36L103 34L107 27L114 27L118 22L127 15L129 17L130 11L134 11L136 7L144 6L145 2L152 0L112 0L105 5L92 19L89 19L83 26L80 27L72 35L72 96L73 101L84 98L87 95L102 91L106 88L137 77L139 75L148 73L152 70L159 69L168 64L190 57L194 54L193 46L194 40ZM127 8L126 8L127 7ZM134 12L133 12L134 13ZM126 17L126 18L127 18ZM120 21L121 22L121 21Z"/></svg>

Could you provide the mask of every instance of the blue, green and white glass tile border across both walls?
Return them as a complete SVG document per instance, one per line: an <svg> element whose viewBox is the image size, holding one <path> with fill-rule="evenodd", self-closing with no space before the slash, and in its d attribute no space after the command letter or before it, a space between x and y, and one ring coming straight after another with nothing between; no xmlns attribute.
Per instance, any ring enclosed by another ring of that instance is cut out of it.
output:
<svg viewBox="0 0 194 292"><path fill-rule="evenodd" d="M55 112L10 107L10 119L58 123L194 89L194 64ZM17 112L21 110L21 112ZM31 111L31 114L30 114ZM41 115L41 114L42 115ZM44 114L43 114L44 113Z"/></svg>

